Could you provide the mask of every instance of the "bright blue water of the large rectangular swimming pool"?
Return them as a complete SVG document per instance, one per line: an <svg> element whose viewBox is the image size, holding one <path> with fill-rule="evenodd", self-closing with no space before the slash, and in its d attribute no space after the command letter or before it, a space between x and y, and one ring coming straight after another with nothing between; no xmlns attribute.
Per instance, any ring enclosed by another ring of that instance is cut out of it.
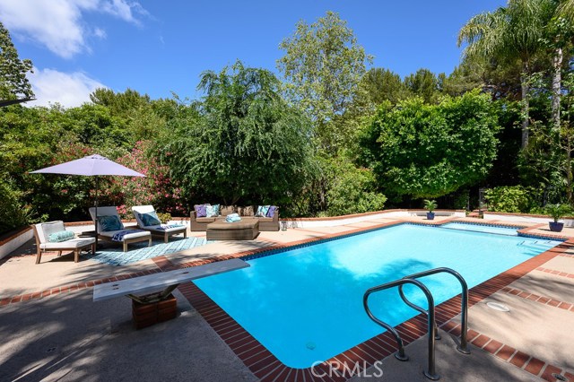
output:
<svg viewBox="0 0 574 382"><path fill-rule="evenodd" d="M446 266L470 288L557 244L403 224L249 260L249 268L196 284L284 364L308 368L384 331L362 307L372 286ZM436 304L460 293L448 274L422 282ZM426 307L420 292L404 290ZM393 326L417 314L396 290L371 295L370 307Z"/></svg>

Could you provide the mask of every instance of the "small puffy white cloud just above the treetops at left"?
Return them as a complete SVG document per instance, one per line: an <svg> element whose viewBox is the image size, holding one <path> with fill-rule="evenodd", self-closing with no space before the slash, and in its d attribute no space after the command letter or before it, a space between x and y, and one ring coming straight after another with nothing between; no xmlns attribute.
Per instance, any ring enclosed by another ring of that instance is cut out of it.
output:
<svg viewBox="0 0 574 382"><path fill-rule="evenodd" d="M73 108L90 101L92 91L106 87L82 72L63 73L54 69L34 68L28 79L36 96L35 101L26 103L30 107L59 103L65 108Z"/></svg>

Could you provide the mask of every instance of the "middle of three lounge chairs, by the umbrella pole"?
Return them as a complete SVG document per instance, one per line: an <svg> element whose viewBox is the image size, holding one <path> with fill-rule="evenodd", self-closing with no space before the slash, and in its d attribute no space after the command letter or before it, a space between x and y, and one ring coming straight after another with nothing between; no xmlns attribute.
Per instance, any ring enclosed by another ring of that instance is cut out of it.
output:
<svg viewBox="0 0 574 382"><path fill-rule="evenodd" d="M96 211L95 207L90 207L90 215L91 220L96 223ZM98 238L107 241L114 241L118 243L122 243L124 247L124 252L127 251L127 245L130 243L135 243L138 241L148 241L148 247L152 246L152 234L147 230L137 230L137 227L124 227L121 224L121 228L116 230L109 230L109 227L106 227L106 224L103 223L102 217L103 216L116 216L117 221L119 219L119 215L117 214L117 209L115 206L106 206L106 207L98 207Z"/></svg>

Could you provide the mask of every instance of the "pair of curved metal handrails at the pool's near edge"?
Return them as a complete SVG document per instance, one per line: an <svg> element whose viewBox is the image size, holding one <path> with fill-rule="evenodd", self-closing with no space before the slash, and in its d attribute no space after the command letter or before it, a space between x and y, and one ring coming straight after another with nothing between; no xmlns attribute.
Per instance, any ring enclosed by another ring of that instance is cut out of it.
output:
<svg viewBox="0 0 574 382"><path fill-rule="evenodd" d="M396 329L393 326L388 325L387 323L381 321L380 319L378 319L377 317L375 317L373 315L373 313L370 311L369 308L369 296L370 294L377 292L377 291L384 291L387 290L389 288L393 288L398 286L398 291L399 294L401 296L401 299L403 299L404 303L406 305L408 305L409 307L423 313L424 315L427 316L427 327L428 327L428 337L429 337L429 343L428 343L428 352L429 352L429 366L428 369L424 371L424 375L427 378L430 378L432 380L437 380L440 378L439 374L437 374L436 369L435 369L435 352L434 352L434 344L435 344L435 340L440 339L438 332L437 332L437 324L436 324L436 320L435 320L435 314L434 314L434 299L432 298L432 294L431 291L429 291L429 289L420 281L416 280L418 278L424 277L424 276L429 276L431 274L435 274L435 273L450 273L453 276L455 276L458 280L458 282L460 282L460 286L462 289L462 298L461 298L461 333L460 333L460 344L457 345L457 350L459 352L465 353L465 354L470 354L470 351L468 350L468 343L466 340L466 332L468 329L468 286L466 285L465 279L463 278L463 276L461 276L459 273L457 273L457 271L454 271L450 268L435 268L435 269L430 269L428 271L424 271L424 272L420 272L420 273L413 273L410 274L408 276L404 276L402 279L396 280L394 282L387 282L381 285L378 285L376 287L372 287L369 288L365 294L363 295L362 298L362 303L363 303L363 307L365 308L365 311L367 312L367 315L370 317L370 319L372 319L375 323L377 323L379 326L384 327L385 329L387 329L389 331L390 334L393 334L393 336L396 339L396 343L398 345L398 351L395 353L395 357L397 360L408 360L408 357L405 355L404 353L404 343L403 340L401 339L400 335L396 332ZM425 295L426 299L427 299L427 303L428 303L428 310L424 309L422 307L419 307L418 305L413 304L411 301L409 301L406 296L404 296L404 292L403 292L403 285L404 284L413 284L415 286L417 286Z"/></svg>

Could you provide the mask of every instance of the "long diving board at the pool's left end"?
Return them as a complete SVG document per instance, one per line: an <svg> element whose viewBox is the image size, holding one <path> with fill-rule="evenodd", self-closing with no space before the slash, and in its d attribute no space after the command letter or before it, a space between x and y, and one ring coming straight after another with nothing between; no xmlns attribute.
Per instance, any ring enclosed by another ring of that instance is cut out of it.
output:
<svg viewBox="0 0 574 382"><path fill-rule="evenodd" d="M148 274L133 279L106 282L94 286L93 300L102 301L115 299L119 296L127 296L140 303L160 301L168 298L171 291L175 290L182 282L190 282L202 277L213 276L214 274L247 268L248 266L250 265L245 261L239 258L233 258L175 271ZM164 290L160 291L162 288L164 288ZM156 293L152 296L141 296L152 292Z"/></svg>

